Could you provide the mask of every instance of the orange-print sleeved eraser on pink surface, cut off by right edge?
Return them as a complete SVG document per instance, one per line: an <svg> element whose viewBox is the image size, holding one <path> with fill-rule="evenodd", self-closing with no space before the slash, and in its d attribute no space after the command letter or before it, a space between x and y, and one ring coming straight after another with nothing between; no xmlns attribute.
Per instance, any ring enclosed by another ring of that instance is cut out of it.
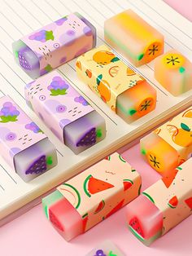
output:
<svg viewBox="0 0 192 256"><path fill-rule="evenodd" d="M142 154L161 174L174 170L192 155L192 107L140 141Z"/></svg>

